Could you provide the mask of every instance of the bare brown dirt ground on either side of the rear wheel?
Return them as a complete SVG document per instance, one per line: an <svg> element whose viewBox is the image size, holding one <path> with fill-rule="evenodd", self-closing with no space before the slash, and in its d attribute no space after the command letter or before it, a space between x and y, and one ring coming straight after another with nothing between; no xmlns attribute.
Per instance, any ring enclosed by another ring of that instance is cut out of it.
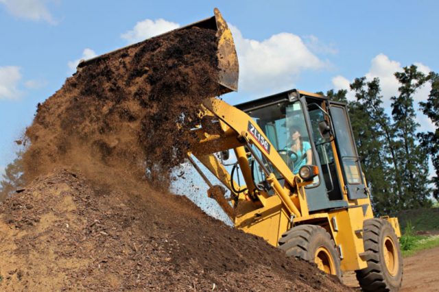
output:
<svg viewBox="0 0 439 292"><path fill-rule="evenodd" d="M401 291L439 291L439 247L424 250L404 258L403 287ZM355 273L346 273L343 282L359 288Z"/></svg>

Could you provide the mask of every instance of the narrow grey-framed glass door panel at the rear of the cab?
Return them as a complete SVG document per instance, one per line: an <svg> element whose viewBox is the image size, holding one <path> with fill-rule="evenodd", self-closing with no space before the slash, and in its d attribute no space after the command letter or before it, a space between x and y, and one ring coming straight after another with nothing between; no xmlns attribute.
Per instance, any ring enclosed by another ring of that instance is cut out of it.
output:
<svg viewBox="0 0 439 292"><path fill-rule="evenodd" d="M333 122L333 134L348 198L361 199L368 197L346 106L333 101L329 102L329 113Z"/></svg>

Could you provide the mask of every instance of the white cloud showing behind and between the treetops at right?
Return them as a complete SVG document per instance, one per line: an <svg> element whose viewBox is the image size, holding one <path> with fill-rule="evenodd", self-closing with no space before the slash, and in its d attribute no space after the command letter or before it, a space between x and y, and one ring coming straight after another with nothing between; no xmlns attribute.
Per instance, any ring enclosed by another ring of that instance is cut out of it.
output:
<svg viewBox="0 0 439 292"><path fill-rule="evenodd" d="M416 66L418 66L418 71L428 74L431 69L425 64L420 62L414 62ZM385 56L383 53L375 56L372 59L370 64L369 71L365 74L366 80L370 81L375 77L379 78L380 86L381 86L381 95L383 96L383 108L388 110L390 114L390 106L392 101L390 97L397 96L399 82L394 76L395 72L402 72L403 67L400 62L390 60L388 56ZM349 89L349 83L353 82L353 80L349 81L346 77L343 76L335 76L333 77L332 83L335 89L347 89L348 90L348 99L353 100L354 94ZM418 103L419 101L423 101L427 99L429 92L431 90L431 84L425 84L423 87L419 88L414 95L414 109L416 110L416 122L420 124L418 131L433 131L434 125L431 121L419 111Z"/></svg>

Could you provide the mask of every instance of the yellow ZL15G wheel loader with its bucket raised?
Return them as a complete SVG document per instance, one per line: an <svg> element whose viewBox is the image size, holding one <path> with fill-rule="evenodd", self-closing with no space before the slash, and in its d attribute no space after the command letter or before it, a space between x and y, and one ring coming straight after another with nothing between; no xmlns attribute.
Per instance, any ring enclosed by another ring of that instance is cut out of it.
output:
<svg viewBox="0 0 439 292"><path fill-rule="evenodd" d="M216 31L211 82L236 91L237 54L219 10L180 29L190 27ZM187 157L236 228L339 278L355 271L365 291L399 290L398 219L373 215L346 104L292 89L237 106L212 95L200 109Z"/></svg>

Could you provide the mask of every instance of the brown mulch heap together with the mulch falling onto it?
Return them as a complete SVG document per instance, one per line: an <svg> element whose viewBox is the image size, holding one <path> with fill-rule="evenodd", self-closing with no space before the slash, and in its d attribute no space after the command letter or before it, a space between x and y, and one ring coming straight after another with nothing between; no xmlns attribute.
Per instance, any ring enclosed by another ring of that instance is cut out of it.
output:
<svg viewBox="0 0 439 292"><path fill-rule="evenodd" d="M167 191L200 102L222 93L216 41L198 28L146 40L38 105L27 186L0 205L0 290L344 289Z"/></svg>

